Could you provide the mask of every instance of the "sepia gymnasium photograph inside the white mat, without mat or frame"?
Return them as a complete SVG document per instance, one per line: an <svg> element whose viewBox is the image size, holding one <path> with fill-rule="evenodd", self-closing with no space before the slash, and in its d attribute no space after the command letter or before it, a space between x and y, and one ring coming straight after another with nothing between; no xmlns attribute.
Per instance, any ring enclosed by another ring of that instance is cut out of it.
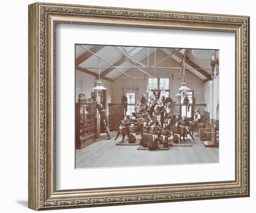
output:
<svg viewBox="0 0 256 213"><path fill-rule="evenodd" d="M218 163L218 58L75 44L75 168Z"/></svg>

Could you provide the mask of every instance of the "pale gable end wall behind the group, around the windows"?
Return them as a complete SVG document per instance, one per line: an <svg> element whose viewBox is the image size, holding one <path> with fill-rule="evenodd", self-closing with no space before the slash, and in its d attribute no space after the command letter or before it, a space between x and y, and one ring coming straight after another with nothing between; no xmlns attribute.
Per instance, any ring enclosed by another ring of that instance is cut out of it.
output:
<svg viewBox="0 0 256 213"><path fill-rule="evenodd" d="M162 51L158 50L156 51L156 61L160 60L161 58L165 57L166 54L163 53ZM147 63L146 60L142 61L145 64ZM149 64L154 63L154 54L150 55L149 57ZM158 64L159 67L171 67L175 66L177 62L174 60L168 58ZM181 66L179 66L181 67ZM143 69L144 71L147 71L149 74L154 75L155 71L154 69ZM166 69L156 69L156 76L163 73ZM180 73L180 69L173 69L167 72L166 74L163 74L161 77L162 78L178 78ZM132 77L143 77L145 76L144 73L142 73L140 70L136 68L132 68L128 70L127 72L128 75ZM171 97L173 101L176 102L176 104L179 104L179 99L175 94L177 93L177 89L181 87L182 83L182 76L183 73L181 73L180 77L181 79L172 79L170 80L170 91L171 91ZM126 75L122 74L121 77L127 77ZM148 77L148 76L147 76ZM187 82L187 86L191 89L194 90L194 97L195 97L195 103L196 104L204 104L204 86L203 86L203 81L197 78L193 73L189 72L188 70L185 70L185 78ZM189 79L193 78L193 79ZM132 87L139 87L138 93L136 93L136 100L141 100L142 94L147 93L147 79L146 78L137 78L137 79L132 79ZM116 79L114 81L114 88L122 88L122 87L130 87L130 79ZM121 103L121 96L122 96L122 91L121 89L115 91L115 96L113 96L113 103ZM198 107L200 108L201 112L203 112L204 107ZM175 114L179 114L179 107L175 107Z"/></svg>

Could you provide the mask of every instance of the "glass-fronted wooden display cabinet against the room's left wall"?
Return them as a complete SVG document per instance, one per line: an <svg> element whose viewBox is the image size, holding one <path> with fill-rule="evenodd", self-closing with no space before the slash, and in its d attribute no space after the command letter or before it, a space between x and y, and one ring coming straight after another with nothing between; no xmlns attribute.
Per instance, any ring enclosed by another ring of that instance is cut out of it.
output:
<svg viewBox="0 0 256 213"><path fill-rule="evenodd" d="M96 141L96 105L76 103L75 107L75 147L81 149Z"/></svg>

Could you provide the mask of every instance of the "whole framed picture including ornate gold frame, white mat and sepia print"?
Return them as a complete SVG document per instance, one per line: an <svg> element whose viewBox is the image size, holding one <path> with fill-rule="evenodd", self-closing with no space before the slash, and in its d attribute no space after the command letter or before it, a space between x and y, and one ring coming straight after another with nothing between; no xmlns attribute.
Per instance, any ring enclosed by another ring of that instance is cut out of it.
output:
<svg viewBox="0 0 256 213"><path fill-rule="evenodd" d="M28 7L28 207L249 197L250 17L74 4Z"/></svg>

